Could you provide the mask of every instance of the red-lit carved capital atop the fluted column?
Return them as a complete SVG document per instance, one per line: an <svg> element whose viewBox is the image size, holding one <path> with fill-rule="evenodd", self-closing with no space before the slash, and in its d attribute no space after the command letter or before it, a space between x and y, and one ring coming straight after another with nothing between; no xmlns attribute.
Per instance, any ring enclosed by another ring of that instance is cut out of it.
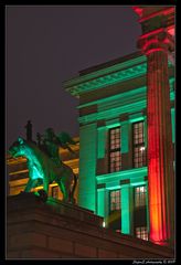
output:
<svg viewBox="0 0 181 265"><path fill-rule="evenodd" d="M138 49L141 49L146 55L158 51L173 52L174 39L164 29L159 29L141 35L138 40Z"/></svg>

